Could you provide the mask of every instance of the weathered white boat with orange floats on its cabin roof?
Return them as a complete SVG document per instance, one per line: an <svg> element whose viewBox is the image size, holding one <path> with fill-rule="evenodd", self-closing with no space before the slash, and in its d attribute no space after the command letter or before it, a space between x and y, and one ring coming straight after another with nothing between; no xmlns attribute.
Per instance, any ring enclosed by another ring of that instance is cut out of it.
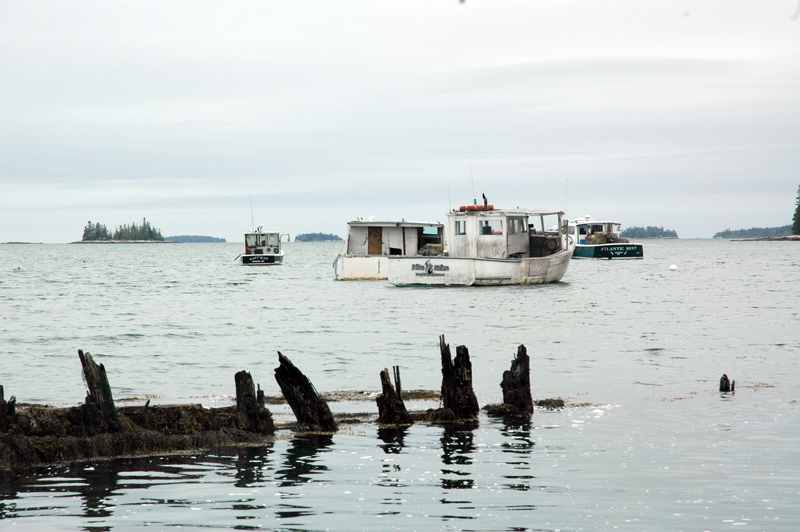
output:
<svg viewBox="0 0 800 532"><path fill-rule="evenodd" d="M561 211L462 206L447 214L448 254L389 257L396 286L541 284L560 281L574 244Z"/></svg>

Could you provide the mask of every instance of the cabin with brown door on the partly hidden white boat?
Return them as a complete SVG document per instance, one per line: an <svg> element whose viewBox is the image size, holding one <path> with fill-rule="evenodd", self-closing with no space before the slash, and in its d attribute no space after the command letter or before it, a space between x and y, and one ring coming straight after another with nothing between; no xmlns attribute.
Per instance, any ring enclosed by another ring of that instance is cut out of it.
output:
<svg viewBox="0 0 800 532"><path fill-rule="evenodd" d="M375 222L347 224L348 256L441 255L444 225L426 222Z"/></svg>

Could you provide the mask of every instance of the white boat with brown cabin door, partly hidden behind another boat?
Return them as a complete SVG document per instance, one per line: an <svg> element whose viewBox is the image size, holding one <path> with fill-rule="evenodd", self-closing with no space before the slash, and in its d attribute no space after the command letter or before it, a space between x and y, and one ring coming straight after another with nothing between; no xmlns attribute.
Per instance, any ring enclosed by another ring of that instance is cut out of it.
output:
<svg viewBox="0 0 800 532"><path fill-rule="evenodd" d="M389 257L436 256L443 253L444 226L438 222L376 222L347 224L345 252L333 261L339 281L386 279Z"/></svg>

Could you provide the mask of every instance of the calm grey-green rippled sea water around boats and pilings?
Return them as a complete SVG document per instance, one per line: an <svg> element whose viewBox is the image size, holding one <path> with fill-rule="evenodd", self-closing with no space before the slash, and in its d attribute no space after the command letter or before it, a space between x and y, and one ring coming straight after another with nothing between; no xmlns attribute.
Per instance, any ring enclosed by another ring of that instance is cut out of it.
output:
<svg viewBox="0 0 800 532"><path fill-rule="evenodd" d="M6 473L0 529L800 529L796 243L648 241L554 285L452 289L336 282L341 244L287 244L271 268L239 266L240 247L0 246L6 398L81 402L78 349L117 400L227 405L242 369L279 395L277 351L322 392L377 393L392 365L438 389L445 334L482 405L524 343L534 397L574 406Z"/></svg>

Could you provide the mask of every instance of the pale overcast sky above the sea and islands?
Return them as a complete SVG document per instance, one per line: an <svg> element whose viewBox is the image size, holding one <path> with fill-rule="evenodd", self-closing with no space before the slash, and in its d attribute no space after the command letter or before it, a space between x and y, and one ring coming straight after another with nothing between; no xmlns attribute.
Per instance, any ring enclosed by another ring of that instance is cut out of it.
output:
<svg viewBox="0 0 800 532"><path fill-rule="evenodd" d="M800 0L0 0L0 242L473 194L710 238L798 187Z"/></svg>

